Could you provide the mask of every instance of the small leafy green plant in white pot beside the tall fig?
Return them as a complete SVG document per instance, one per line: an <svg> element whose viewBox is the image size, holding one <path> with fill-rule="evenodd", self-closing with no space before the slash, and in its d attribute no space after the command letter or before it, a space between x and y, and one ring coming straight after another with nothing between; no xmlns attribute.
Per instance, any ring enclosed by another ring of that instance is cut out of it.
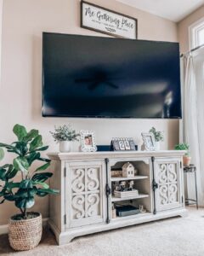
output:
<svg viewBox="0 0 204 256"><path fill-rule="evenodd" d="M73 142L78 141L80 136L75 130L71 128L71 125L59 125L54 126L54 131L50 131L54 137L54 141L59 143L60 152L71 152L73 148Z"/></svg>

